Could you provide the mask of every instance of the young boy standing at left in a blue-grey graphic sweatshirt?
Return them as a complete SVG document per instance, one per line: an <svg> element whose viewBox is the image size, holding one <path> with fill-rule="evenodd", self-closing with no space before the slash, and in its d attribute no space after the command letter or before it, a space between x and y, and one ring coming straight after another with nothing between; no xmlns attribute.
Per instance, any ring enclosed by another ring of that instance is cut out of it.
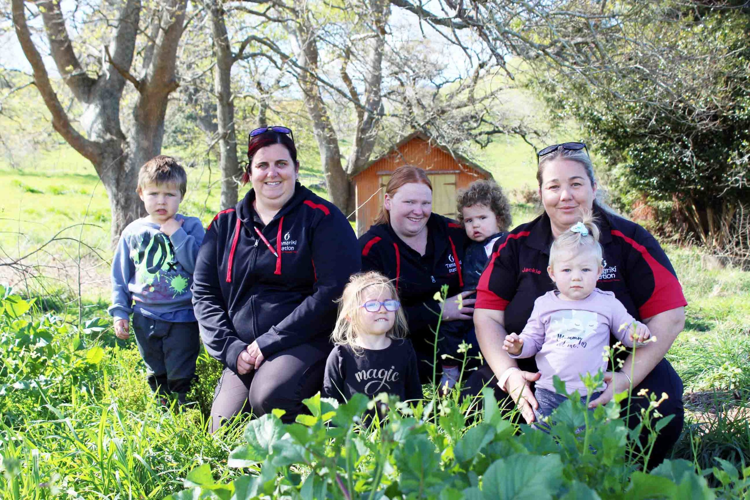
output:
<svg viewBox="0 0 750 500"><path fill-rule="evenodd" d="M192 294L195 259L204 230L196 217L177 213L187 175L177 161L159 155L138 174L147 217L122 232L112 261L115 335L130 337L130 314L148 385L185 402L200 349Z"/></svg>

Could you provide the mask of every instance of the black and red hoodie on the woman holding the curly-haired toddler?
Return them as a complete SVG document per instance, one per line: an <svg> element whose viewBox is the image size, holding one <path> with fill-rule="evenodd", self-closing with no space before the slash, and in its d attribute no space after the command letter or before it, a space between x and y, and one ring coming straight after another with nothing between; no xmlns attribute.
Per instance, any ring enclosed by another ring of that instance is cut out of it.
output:
<svg viewBox="0 0 750 500"><path fill-rule="evenodd" d="M430 343L434 343L435 334L431 328L437 328L437 312L440 311L434 295L444 284L449 286L449 297L460 292L466 231L454 220L438 214L431 214L427 227L428 244L424 256L404 243L389 223L371 226L359 238L359 246L362 248L362 271L380 271L395 280L414 349L420 358L427 357L432 362L433 347ZM452 335L441 337L438 354L456 356L461 339Z"/></svg>

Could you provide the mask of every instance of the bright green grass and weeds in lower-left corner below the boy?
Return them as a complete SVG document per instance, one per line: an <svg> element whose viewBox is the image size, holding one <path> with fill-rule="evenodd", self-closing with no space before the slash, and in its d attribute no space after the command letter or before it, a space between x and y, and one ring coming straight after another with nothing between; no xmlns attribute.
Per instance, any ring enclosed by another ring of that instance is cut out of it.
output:
<svg viewBox="0 0 750 500"><path fill-rule="evenodd" d="M39 314L0 321L0 498L160 499L201 463L236 475L223 463L242 418L210 435L198 405L180 411L151 394L132 343L101 336L99 322Z"/></svg>

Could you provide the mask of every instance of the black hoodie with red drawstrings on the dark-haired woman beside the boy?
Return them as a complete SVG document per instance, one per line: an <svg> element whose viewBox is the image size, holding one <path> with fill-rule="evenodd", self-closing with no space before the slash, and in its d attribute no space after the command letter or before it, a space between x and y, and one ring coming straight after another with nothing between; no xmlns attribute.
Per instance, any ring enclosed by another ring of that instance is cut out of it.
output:
<svg viewBox="0 0 750 500"><path fill-rule="evenodd" d="M347 218L307 187L296 183L292 199L266 226L254 199L251 190L214 217L193 274L203 343L234 372L254 340L265 358L302 343L328 343L334 301L361 266Z"/></svg>

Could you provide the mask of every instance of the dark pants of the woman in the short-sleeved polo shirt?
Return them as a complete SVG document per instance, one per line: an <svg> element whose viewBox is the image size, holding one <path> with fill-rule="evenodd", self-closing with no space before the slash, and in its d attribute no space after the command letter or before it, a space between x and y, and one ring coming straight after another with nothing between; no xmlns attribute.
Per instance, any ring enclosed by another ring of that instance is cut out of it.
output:
<svg viewBox="0 0 750 500"><path fill-rule="evenodd" d="M521 370L536 371L533 358L527 360L520 359L518 361ZM509 400L508 394L497 387L494 374L488 365L484 365L484 367L472 373L472 376L466 381L466 388L464 388L463 395L470 397L479 394L484 385L494 389L495 397L499 402L502 403L505 400ZM661 393L666 393L668 399L659 405L658 412L664 415L664 417L674 415L669 424L664 426L656 438L653 452L649 459L650 469L664 461L677 442L677 439L679 439L679 435L682 433L682 425L685 423L685 409L682 406L682 379L679 378L679 375L674 371L669 361L662 359L651 370L651 373L643 379L643 382L640 382L633 389L630 414L627 414L627 409L622 409L621 416L626 419L628 427L631 429L640 423L640 409L649 406L649 400L646 397L637 396L638 391L643 388L649 390L648 394L656 394L657 399L661 398ZM641 442L645 444L647 436L642 435L640 437Z"/></svg>

